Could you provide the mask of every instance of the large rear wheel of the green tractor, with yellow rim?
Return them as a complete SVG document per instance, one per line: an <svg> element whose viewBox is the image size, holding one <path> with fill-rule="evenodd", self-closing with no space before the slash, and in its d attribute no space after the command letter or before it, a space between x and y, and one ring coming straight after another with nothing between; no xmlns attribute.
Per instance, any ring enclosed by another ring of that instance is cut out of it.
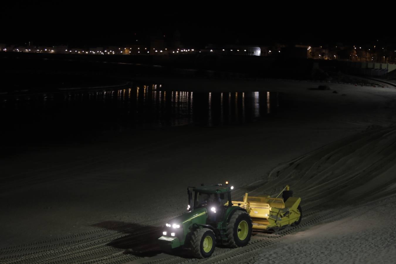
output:
<svg viewBox="0 0 396 264"><path fill-rule="evenodd" d="M244 247L249 243L253 225L246 211L236 211L227 224L228 247Z"/></svg>

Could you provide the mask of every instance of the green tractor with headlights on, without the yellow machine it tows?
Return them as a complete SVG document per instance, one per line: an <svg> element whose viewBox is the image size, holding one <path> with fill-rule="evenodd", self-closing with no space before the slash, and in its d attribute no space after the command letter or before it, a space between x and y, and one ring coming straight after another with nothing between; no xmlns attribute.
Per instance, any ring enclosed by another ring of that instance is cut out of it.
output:
<svg viewBox="0 0 396 264"><path fill-rule="evenodd" d="M221 184L188 187L188 213L166 224L163 236L158 239L162 248L189 247L195 258L207 258L216 245L246 246L252 220L246 209L232 205L232 189Z"/></svg>

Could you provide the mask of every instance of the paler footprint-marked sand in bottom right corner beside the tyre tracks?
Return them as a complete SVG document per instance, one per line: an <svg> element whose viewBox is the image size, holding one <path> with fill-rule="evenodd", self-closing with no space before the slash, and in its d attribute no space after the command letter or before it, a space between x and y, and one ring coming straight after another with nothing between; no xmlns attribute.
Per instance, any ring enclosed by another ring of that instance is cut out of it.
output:
<svg viewBox="0 0 396 264"><path fill-rule="evenodd" d="M250 263L394 263L396 199L360 206L358 213L293 234L249 260ZM386 217L384 213L386 212Z"/></svg>

